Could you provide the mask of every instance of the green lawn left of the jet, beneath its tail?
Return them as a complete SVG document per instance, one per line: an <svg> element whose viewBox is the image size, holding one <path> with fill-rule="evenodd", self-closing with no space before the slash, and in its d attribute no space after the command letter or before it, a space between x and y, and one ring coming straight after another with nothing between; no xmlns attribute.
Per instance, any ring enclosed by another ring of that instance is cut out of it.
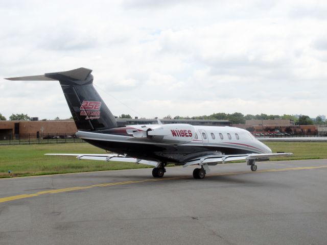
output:
<svg viewBox="0 0 327 245"><path fill-rule="evenodd" d="M100 153L104 150L88 143L31 144L0 146L0 178L49 175L84 171L151 167L144 164L78 160L74 156L44 156L45 153Z"/></svg>

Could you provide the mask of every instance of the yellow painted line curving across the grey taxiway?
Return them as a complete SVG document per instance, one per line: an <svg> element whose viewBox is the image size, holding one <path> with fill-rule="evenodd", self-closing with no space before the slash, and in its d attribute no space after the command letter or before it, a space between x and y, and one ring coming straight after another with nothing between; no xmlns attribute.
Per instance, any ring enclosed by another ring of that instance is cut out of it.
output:
<svg viewBox="0 0 327 245"><path fill-rule="evenodd" d="M318 169L318 168L325 168L325 167L327 167L327 165L314 166L314 167L289 167L289 168L279 168L279 169L277 168L277 169L258 170L255 172L243 171L243 172L219 173L219 174L212 174L207 176L213 177L213 176L226 176L226 175L241 175L241 174L249 174L249 173L254 174L254 173L266 173L266 172L288 171L288 170ZM96 185L89 185L89 186L76 186L76 187L69 187L69 188L55 189L55 190L44 190L31 194L13 195L12 197L0 198L0 203L9 202L18 199L24 199L24 198L37 197L38 195L42 195L42 194L54 194L54 193L74 191L74 190L90 189L94 187L137 184L137 183L165 181L165 180L180 180L180 179L189 179L189 178L191 177L183 176L183 177L157 178L157 179L147 179L147 180L131 180L131 181L122 181L122 182L103 183L103 184L96 184Z"/></svg>

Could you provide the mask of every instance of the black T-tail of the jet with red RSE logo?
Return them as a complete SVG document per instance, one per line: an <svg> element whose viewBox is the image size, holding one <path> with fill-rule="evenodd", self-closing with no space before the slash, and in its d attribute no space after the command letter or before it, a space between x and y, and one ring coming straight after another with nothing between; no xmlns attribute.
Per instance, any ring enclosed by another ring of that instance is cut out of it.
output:
<svg viewBox="0 0 327 245"><path fill-rule="evenodd" d="M59 81L76 127L81 131L105 130L117 127L115 117L93 86L92 70L78 68L46 73L39 76L6 78L16 81Z"/></svg>

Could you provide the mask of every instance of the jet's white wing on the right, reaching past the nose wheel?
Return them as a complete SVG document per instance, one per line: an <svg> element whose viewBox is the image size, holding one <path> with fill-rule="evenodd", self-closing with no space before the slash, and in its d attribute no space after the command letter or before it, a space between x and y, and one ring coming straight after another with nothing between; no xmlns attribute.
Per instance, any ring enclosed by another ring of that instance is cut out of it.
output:
<svg viewBox="0 0 327 245"><path fill-rule="evenodd" d="M240 155L208 155L200 158L192 159L186 162L183 167L196 165L196 164L208 164L216 165L219 163L225 163L227 161L237 161L237 160L269 160L270 157L286 157L291 156L293 153L270 153L270 154L240 154Z"/></svg>

